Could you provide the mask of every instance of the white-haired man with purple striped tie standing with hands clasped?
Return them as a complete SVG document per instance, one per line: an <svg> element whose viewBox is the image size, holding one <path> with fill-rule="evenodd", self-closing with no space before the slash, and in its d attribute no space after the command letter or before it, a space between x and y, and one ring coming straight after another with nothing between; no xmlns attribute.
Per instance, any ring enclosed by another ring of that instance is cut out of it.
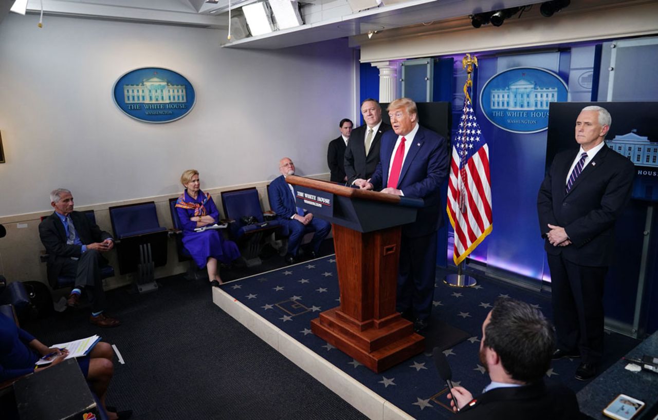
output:
<svg viewBox="0 0 658 420"><path fill-rule="evenodd" d="M576 119L579 149L557 154L539 190L537 211L557 329L554 359L582 357L576 379L596 375L603 356L603 281L615 246L615 220L633 183L630 160L603 139L610 114L586 106Z"/></svg>

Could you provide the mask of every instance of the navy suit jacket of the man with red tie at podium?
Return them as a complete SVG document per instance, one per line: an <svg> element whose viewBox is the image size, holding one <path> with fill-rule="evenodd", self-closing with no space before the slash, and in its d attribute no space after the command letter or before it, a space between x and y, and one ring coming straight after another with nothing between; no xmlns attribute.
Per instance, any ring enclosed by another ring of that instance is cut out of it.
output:
<svg viewBox="0 0 658 420"><path fill-rule="evenodd" d="M382 189L388 183L388 168L396 141L397 134L393 130L382 135L381 159L370 180L374 189ZM405 145L409 147L409 152L397 181L397 189L401 189L405 197L422 198L424 206L418 209L416 222L404 225L402 233L410 237L429 235L439 229L443 215L441 185L448 173L447 144L443 137L420 126L413 143L407 142Z"/></svg>

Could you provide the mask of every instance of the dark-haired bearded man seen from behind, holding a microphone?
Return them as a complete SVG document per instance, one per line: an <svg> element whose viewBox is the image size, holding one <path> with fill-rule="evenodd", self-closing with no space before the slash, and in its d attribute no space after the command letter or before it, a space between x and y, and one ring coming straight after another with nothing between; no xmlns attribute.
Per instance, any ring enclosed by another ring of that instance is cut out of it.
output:
<svg viewBox="0 0 658 420"><path fill-rule="evenodd" d="M480 341L480 362L492 382L477 398L461 386L451 388L450 404L460 410L457 417L580 419L576 394L544 383L554 348L553 327L540 310L519 300L498 300L482 323Z"/></svg>

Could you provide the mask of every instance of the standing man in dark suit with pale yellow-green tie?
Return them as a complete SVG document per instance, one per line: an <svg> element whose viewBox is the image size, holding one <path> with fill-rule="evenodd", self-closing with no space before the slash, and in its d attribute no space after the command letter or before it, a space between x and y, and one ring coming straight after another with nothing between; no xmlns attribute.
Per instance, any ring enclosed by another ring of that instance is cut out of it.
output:
<svg viewBox="0 0 658 420"><path fill-rule="evenodd" d="M382 122L382 107L374 99L366 99L361 103L363 126L355 128L349 137L345 149L345 175L347 185L355 179L369 179L379 163L380 141L382 134L391 126Z"/></svg>

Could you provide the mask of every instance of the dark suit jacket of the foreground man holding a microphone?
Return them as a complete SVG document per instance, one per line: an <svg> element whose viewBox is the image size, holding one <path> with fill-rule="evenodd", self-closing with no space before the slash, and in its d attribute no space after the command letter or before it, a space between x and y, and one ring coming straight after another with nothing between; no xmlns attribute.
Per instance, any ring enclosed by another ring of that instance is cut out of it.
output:
<svg viewBox="0 0 658 420"><path fill-rule="evenodd" d="M576 394L563 385L544 381L515 388L495 388L478 396L457 413L457 420L572 420L584 416Z"/></svg>

